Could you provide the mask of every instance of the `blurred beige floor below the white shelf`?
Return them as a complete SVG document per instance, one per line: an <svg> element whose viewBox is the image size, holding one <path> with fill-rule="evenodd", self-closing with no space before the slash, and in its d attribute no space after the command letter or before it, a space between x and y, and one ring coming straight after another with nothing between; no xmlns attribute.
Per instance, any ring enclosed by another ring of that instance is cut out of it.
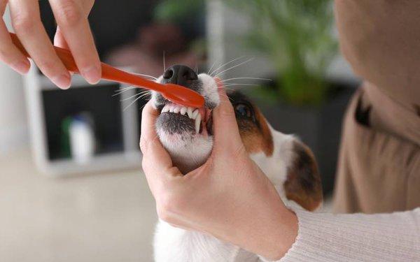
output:
<svg viewBox="0 0 420 262"><path fill-rule="evenodd" d="M0 157L0 261L153 261L141 171L53 179L28 150Z"/></svg>

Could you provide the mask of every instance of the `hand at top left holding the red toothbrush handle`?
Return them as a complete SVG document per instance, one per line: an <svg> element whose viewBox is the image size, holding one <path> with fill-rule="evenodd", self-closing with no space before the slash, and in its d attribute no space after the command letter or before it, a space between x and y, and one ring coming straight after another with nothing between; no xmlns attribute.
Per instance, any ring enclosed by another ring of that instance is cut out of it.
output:
<svg viewBox="0 0 420 262"><path fill-rule="evenodd" d="M94 0L49 0L57 21L55 45L71 51L83 77L94 84L101 66L87 15ZM52 47L41 23L37 0L0 0L0 15L8 3L13 29L41 71L58 87L68 88L71 76ZM19 73L29 71L28 59L13 45L6 24L0 20L0 61Z"/></svg>

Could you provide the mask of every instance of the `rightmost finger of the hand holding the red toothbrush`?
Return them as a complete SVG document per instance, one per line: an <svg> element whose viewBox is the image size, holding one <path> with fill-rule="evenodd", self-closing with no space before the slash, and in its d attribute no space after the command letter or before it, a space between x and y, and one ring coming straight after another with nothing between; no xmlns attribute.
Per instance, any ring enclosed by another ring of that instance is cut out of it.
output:
<svg viewBox="0 0 420 262"><path fill-rule="evenodd" d="M94 45L87 15L83 4L75 0L50 0L52 12L59 26L60 34L73 54L80 73L91 84L102 77L99 55Z"/></svg>

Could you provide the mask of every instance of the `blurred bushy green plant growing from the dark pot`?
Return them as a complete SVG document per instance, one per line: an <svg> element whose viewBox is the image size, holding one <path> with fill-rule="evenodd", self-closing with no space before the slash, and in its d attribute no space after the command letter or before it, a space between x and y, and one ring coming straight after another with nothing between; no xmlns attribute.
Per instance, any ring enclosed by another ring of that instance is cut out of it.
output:
<svg viewBox="0 0 420 262"><path fill-rule="evenodd" d="M337 53L331 0L225 0L251 18L246 44L272 60L277 94L295 105L325 101L325 71ZM267 96L267 94L262 94Z"/></svg>

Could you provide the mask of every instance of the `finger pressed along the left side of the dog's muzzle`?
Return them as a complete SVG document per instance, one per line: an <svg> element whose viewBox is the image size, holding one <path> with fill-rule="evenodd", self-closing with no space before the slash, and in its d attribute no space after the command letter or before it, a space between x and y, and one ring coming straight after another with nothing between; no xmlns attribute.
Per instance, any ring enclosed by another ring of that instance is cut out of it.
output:
<svg viewBox="0 0 420 262"><path fill-rule="evenodd" d="M155 131L155 122L159 112L149 101L141 113L141 136L140 149L143 153L143 168L148 173L165 173L172 168L172 159L160 143L158 134Z"/></svg>

